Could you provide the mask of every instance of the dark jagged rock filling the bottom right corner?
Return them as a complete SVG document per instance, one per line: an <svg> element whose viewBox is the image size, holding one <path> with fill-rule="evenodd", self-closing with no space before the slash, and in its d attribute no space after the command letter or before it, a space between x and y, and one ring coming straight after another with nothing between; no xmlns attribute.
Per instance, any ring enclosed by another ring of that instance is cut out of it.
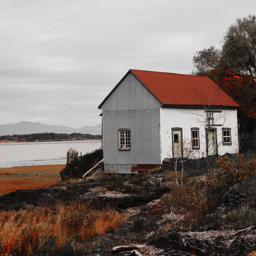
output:
<svg viewBox="0 0 256 256"><path fill-rule="evenodd" d="M256 230L251 226L243 230L170 231L149 244L164 249L167 255L246 256L256 250Z"/></svg>

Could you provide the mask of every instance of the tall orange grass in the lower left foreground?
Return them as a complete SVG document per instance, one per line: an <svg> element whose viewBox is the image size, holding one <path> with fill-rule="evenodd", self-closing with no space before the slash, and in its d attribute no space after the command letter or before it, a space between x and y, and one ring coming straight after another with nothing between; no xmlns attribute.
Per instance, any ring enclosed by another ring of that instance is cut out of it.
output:
<svg viewBox="0 0 256 256"><path fill-rule="evenodd" d="M0 255L41 255L45 249L51 250L50 255L59 255L58 249L68 241L75 251L75 246L104 235L124 220L124 214L110 208L99 211L81 203L0 212Z"/></svg>

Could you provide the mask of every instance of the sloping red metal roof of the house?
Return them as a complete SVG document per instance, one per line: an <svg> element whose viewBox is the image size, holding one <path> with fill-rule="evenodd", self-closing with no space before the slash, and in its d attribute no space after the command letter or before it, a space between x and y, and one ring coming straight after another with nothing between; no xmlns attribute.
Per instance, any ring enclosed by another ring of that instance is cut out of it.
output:
<svg viewBox="0 0 256 256"><path fill-rule="evenodd" d="M207 77L138 69L130 71L163 105L239 107L235 100Z"/></svg>

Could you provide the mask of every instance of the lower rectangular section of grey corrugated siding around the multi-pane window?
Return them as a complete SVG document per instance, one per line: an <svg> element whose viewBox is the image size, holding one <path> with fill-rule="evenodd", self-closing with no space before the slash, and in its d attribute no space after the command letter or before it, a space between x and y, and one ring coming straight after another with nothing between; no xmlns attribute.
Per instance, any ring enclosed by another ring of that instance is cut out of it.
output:
<svg viewBox="0 0 256 256"><path fill-rule="evenodd" d="M105 164L161 164L159 109L103 111ZM130 151L118 151L118 129L131 130Z"/></svg>

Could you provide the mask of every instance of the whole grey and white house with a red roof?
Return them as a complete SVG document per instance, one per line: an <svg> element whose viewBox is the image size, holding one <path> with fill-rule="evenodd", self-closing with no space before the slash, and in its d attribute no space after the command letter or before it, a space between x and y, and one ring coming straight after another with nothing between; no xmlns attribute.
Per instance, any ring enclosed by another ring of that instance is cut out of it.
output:
<svg viewBox="0 0 256 256"><path fill-rule="evenodd" d="M207 77L130 69L99 105L104 168L134 173L166 158L238 153L238 107Z"/></svg>

